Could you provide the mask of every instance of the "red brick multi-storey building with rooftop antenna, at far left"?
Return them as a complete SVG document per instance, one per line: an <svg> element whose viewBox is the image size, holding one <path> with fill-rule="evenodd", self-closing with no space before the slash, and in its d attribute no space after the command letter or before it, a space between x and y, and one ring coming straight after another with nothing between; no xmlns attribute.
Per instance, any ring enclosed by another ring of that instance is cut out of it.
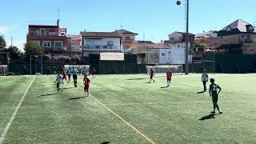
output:
<svg viewBox="0 0 256 144"><path fill-rule="evenodd" d="M29 25L26 42L34 42L42 46L45 54L65 54L67 50L66 44L66 28L45 25Z"/></svg>

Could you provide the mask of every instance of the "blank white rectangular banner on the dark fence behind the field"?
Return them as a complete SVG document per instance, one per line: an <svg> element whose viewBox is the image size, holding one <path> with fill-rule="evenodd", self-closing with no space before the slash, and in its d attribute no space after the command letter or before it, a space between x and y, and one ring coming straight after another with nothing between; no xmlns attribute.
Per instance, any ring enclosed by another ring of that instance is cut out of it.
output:
<svg viewBox="0 0 256 144"><path fill-rule="evenodd" d="M124 61L124 53L101 53L101 61Z"/></svg>

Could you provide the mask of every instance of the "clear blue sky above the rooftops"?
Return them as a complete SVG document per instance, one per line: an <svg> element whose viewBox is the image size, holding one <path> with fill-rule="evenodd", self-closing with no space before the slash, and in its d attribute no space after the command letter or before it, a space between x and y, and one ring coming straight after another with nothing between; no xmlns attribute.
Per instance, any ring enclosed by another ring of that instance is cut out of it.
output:
<svg viewBox="0 0 256 144"><path fill-rule="evenodd" d="M54 25L59 18L68 34L120 29L137 39L160 42L174 31L185 31L185 0L0 0L0 33L8 45L22 48L29 24ZM190 32L220 30L236 19L255 25L255 0L190 0Z"/></svg>

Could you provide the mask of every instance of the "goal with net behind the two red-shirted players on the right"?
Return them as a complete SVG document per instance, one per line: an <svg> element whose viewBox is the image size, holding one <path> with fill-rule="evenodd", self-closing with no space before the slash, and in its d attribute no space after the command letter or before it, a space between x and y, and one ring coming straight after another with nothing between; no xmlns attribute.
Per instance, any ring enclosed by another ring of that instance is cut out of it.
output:
<svg viewBox="0 0 256 144"><path fill-rule="evenodd" d="M169 69L173 74L182 74L182 65L155 65L146 66L147 74L150 74L150 69L154 70L155 74L166 74Z"/></svg>

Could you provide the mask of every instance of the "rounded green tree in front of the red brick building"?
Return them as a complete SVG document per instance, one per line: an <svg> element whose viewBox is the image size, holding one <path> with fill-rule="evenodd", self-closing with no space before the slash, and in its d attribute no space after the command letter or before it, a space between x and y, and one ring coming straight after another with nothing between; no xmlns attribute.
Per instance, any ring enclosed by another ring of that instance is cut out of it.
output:
<svg viewBox="0 0 256 144"><path fill-rule="evenodd" d="M43 48L34 42L26 42L24 46L25 56L29 58L30 55L44 56Z"/></svg>

